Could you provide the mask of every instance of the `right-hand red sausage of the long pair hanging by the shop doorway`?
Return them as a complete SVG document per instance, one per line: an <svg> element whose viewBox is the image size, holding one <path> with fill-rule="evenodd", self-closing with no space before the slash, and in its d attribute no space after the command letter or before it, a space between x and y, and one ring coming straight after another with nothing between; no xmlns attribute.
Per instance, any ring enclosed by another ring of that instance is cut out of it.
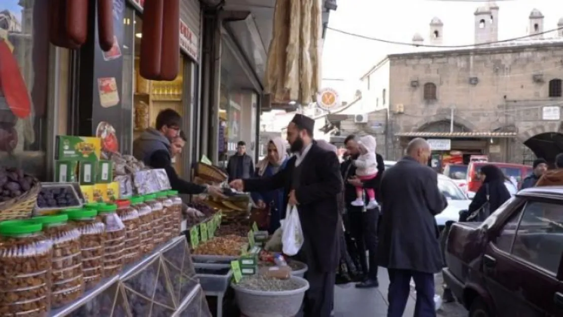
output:
<svg viewBox="0 0 563 317"><path fill-rule="evenodd" d="M180 68L180 0L166 0L164 16L160 78L173 81Z"/></svg>

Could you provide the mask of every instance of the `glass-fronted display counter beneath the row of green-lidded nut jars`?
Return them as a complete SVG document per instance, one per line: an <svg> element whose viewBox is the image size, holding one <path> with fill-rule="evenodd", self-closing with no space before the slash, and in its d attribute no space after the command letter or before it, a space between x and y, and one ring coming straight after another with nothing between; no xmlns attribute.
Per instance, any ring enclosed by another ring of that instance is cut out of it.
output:
<svg viewBox="0 0 563 317"><path fill-rule="evenodd" d="M156 248L52 317L211 317L185 236Z"/></svg>

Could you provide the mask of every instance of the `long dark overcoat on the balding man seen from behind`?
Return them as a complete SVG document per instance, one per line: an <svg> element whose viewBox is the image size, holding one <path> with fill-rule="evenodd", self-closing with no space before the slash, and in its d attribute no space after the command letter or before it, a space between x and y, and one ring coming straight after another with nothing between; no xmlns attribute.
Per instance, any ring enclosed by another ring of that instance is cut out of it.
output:
<svg viewBox="0 0 563 317"><path fill-rule="evenodd" d="M435 215L447 206L438 175L405 157L386 169L381 186L379 265L388 269L438 273L442 269Z"/></svg>

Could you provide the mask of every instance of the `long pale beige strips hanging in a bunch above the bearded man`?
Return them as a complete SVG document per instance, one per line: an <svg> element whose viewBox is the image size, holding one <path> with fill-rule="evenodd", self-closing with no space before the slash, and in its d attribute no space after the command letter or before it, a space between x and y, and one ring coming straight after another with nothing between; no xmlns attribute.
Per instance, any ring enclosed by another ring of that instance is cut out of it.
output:
<svg viewBox="0 0 563 317"><path fill-rule="evenodd" d="M318 0L276 0L264 80L272 102L307 105L319 91L322 11Z"/></svg>

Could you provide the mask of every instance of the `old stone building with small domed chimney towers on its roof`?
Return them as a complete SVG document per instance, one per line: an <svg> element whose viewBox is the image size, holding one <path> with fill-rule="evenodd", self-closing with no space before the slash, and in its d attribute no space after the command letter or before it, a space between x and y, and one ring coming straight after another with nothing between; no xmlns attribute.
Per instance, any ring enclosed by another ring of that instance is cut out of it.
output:
<svg viewBox="0 0 563 317"><path fill-rule="evenodd" d="M333 120L339 133L376 135L387 159L401 157L413 137L425 137L441 144L444 154L457 150L466 160L486 154L496 162L553 161L563 152L563 30L554 38L543 32L563 27L563 18L544 26L534 9L530 37L495 42L498 11L494 3L477 8L473 47L419 47L373 66L361 79L363 91L378 96L378 110L368 120L354 115ZM430 43L441 43L444 32L447 25L432 19ZM413 44L423 43L415 34ZM374 132L373 122L383 127Z"/></svg>

